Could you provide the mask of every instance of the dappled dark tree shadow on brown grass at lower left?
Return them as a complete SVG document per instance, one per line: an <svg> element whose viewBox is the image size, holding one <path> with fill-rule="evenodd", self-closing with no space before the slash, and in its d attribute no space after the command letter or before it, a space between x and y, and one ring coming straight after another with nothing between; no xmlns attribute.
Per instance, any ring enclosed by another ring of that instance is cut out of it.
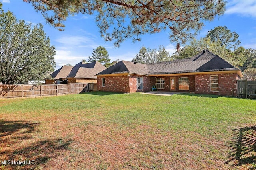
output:
<svg viewBox="0 0 256 170"><path fill-rule="evenodd" d="M40 123L29 121L0 120L0 160L4 169L45 168L46 162L66 150L72 140L54 138L40 139L33 136ZM25 161L25 164L13 164L14 161ZM30 161L30 162L29 162ZM29 164L30 163L30 164ZM34 164L32 164L34 163Z"/></svg>

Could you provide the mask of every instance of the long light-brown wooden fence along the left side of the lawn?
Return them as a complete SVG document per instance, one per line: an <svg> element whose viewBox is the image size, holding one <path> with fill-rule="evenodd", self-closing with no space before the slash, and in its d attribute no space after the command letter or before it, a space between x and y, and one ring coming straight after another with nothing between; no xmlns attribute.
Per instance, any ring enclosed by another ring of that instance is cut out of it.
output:
<svg viewBox="0 0 256 170"><path fill-rule="evenodd" d="M0 98L33 98L78 94L88 91L88 84L49 84L49 85L0 85Z"/></svg>

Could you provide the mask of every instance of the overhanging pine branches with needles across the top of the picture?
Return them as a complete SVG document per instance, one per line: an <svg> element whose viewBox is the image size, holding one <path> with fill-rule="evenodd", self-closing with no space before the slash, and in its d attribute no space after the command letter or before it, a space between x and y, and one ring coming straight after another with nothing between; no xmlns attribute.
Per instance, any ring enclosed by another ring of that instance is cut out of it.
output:
<svg viewBox="0 0 256 170"><path fill-rule="evenodd" d="M106 41L119 46L128 38L169 30L171 42L185 43L205 21L224 13L226 0L24 0L48 23L62 30L63 21L76 13L97 14L95 21ZM177 45L178 47L178 45Z"/></svg>

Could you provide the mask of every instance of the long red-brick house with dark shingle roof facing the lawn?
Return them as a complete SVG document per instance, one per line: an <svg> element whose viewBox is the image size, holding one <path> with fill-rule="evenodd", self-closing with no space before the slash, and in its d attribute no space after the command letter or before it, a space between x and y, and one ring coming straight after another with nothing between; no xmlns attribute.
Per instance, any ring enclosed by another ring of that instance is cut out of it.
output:
<svg viewBox="0 0 256 170"><path fill-rule="evenodd" d="M97 90L111 92L158 91L195 92L236 96L236 80L240 69L203 50L188 59L141 64L120 61L96 74Z"/></svg>

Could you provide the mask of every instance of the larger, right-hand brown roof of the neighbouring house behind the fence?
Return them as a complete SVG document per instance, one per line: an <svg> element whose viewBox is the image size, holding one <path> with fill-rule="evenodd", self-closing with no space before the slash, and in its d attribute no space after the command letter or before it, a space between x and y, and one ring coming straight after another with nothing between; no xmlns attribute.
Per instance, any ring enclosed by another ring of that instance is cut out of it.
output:
<svg viewBox="0 0 256 170"><path fill-rule="evenodd" d="M72 68L70 74L65 78L97 78L95 74L105 69L106 67L98 61L92 63L80 62Z"/></svg>

